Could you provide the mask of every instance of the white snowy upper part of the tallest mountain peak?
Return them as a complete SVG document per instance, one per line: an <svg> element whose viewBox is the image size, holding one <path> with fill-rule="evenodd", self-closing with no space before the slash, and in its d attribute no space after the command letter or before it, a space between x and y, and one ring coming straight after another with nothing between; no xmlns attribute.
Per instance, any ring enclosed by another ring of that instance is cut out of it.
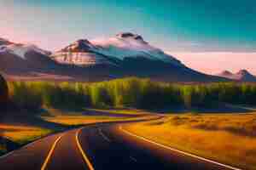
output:
<svg viewBox="0 0 256 170"><path fill-rule="evenodd" d="M131 32L119 33L115 37L96 39L91 41L98 50L105 55L115 56L118 59L126 57L143 57L152 60L161 60L173 65L183 65L171 55L165 54L160 48L155 48L143 40L142 36Z"/></svg>

